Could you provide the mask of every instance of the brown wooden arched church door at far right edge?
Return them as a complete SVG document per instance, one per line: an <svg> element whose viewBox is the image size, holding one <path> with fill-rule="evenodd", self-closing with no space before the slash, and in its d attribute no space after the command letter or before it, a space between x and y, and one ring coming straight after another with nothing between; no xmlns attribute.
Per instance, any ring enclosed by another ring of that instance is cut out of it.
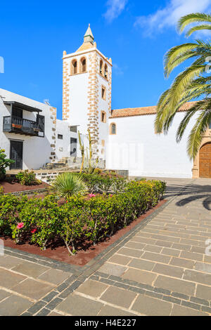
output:
<svg viewBox="0 0 211 330"><path fill-rule="evenodd" d="M211 143L205 143L199 151L199 177L211 178Z"/></svg>

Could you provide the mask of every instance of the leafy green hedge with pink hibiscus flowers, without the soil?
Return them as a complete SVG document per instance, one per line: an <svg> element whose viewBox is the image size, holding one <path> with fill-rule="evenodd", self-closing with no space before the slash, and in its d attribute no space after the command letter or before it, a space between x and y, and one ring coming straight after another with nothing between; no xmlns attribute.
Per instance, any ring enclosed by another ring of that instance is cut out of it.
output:
<svg viewBox="0 0 211 330"><path fill-rule="evenodd" d="M61 206L56 195L44 199L0 195L0 235L41 249L63 239L69 253L75 254L79 241L96 244L113 235L158 204L164 192L165 183L145 180L131 181L124 192L113 195L72 197Z"/></svg>

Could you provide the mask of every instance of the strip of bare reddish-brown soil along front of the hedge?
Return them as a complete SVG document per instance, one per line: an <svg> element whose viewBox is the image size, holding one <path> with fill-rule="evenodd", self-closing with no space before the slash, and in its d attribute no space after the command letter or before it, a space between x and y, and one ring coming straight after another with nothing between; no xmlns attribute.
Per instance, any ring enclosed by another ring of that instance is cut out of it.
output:
<svg viewBox="0 0 211 330"><path fill-rule="evenodd" d="M1 239L4 240L5 246L11 247L13 249L34 253L38 256L44 256L71 265L84 266L89 263L91 259L95 258L96 256L98 256L99 253L108 248L108 246L117 242L118 239L127 234L127 232L132 230L145 218L151 216L154 211L159 209L160 206L162 206L166 202L166 199L162 199L157 206L148 210L146 213L144 213L139 218L130 223L127 227L117 230L117 232L115 232L112 237L105 239L103 242L98 242L96 246L93 246L89 241L83 242L82 246L79 246L79 249L77 250L77 254L75 256L69 256L66 247L64 246L64 244L61 244L61 242L53 242L53 244L48 246L45 251L41 251L39 246L35 246L29 243L16 245L11 238L1 237Z"/></svg>

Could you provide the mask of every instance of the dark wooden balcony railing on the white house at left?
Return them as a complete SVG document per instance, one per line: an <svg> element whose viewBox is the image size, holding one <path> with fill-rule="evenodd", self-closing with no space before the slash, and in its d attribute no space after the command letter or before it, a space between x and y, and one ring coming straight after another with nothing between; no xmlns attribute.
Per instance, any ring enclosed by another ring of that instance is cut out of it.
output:
<svg viewBox="0 0 211 330"><path fill-rule="evenodd" d="M15 116L4 117L3 131L10 133L19 133L30 136L38 136L43 131L37 121L22 119Z"/></svg>

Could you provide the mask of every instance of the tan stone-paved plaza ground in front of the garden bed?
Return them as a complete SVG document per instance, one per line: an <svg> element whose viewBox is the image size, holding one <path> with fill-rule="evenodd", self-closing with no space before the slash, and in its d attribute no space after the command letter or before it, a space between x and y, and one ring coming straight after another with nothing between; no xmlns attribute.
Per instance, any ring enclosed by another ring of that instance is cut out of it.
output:
<svg viewBox="0 0 211 330"><path fill-rule="evenodd" d="M166 198L84 268L6 248L0 315L211 315L211 180L169 179Z"/></svg>

